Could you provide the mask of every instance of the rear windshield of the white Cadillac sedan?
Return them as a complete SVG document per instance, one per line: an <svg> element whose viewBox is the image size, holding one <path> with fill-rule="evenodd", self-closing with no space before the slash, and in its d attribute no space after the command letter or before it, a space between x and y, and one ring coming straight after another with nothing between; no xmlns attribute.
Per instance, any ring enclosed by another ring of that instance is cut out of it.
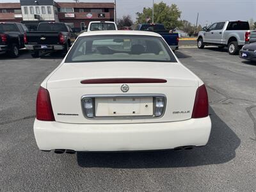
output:
<svg viewBox="0 0 256 192"><path fill-rule="evenodd" d="M95 61L177 62L162 38L141 35L81 36L65 62Z"/></svg>

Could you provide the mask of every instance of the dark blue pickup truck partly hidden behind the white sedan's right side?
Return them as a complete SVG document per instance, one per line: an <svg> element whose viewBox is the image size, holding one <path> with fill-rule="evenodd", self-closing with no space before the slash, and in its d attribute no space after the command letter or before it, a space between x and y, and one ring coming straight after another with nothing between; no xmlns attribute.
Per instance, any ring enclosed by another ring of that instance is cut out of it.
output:
<svg viewBox="0 0 256 192"><path fill-rule="evenodd" d="M166 30L163 24L136 24L132 26L132 29L158 33L163 36L172 51L179 49L179 33L170 33L170 30Z"/></svg>

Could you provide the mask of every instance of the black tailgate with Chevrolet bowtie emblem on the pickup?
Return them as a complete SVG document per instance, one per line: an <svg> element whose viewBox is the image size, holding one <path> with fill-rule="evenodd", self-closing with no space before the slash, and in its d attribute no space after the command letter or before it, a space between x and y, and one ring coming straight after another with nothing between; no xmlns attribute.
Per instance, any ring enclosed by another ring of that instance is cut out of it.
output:
<svg viewBox="0 0 256 192"><path fill-rule="evenodd" d="M28 44L56 45L59 42L60 32L27 32Z"/></svg>

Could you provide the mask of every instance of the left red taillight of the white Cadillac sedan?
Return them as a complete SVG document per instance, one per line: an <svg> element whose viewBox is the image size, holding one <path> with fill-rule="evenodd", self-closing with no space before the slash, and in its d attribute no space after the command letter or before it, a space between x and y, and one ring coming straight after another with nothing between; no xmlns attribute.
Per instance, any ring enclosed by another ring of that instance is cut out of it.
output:
<svg viewBox="0 0 256 192"><path fill-rule="evenodd" d="M36 97L36 119L49 122L55 121L50 94L42 86L40 86Z"/></svg>

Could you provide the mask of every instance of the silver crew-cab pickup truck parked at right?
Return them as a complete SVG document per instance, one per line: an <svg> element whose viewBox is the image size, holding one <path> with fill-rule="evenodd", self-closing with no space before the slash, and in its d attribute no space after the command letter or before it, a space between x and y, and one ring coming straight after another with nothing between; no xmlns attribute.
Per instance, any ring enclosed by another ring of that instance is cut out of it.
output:
<svg viewBox="0 0 256 192"><path fill-rule="evenodd" d="M214 22L198 33L197 46L204 49L205 45L228 47L229 54L238 54L239 49L250 41L250 26L247 21Z"/></svg>

